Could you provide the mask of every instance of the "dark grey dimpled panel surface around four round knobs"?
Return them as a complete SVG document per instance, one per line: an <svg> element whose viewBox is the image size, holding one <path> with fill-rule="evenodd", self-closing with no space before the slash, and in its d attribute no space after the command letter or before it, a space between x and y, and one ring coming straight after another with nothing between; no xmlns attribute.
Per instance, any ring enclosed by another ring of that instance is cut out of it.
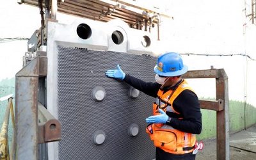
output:
<svg viewBox="0 0 256 160"><path fill-rule="evenodd" d="M154 159L155 147L145 132L154 98L140 93L131 99L128 84L106 77L118 63L126 74L154 81L154 57L58 47L59 159ZM92 97L96 86L106 90L100 102ZM131 124L140 127L137 136L129 135ZM99 130L106 140L95 145L93 133Z"/></svg>

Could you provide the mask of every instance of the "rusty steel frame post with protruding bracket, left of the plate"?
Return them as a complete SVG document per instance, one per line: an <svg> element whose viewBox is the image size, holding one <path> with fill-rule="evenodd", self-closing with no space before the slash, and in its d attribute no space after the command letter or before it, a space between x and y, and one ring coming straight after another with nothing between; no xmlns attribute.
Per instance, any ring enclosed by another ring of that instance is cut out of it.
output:
<svg viewBox="0 0 256 160"><path fill-rule="evenodd" d="M38 143L60 140L60 123L42 106L46 118L38 124L38 78L45 76L46 56L37 56L15 76L15 159L38 159Z"/></svg>

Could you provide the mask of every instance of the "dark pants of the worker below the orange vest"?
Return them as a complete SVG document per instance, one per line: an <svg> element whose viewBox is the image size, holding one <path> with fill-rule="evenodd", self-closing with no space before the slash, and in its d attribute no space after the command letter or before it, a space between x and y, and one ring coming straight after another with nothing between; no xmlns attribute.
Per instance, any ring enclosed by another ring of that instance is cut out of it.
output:
<svg viewBox="0 0 256 160"><path fill-rule="evenodd" d="M170 154L161 148L156 148L156 160L195 160L196 155L188 154Z"/></svg>

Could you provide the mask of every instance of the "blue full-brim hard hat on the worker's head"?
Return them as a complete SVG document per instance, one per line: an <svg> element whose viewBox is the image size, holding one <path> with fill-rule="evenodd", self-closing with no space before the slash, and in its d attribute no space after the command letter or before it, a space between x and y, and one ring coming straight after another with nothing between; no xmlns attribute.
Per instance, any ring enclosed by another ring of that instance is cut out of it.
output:
<svg viewBox="0 0 256 160"><path fill-rule="evenodd" d="M188 66L183 65L180 54L168 52L159 56L154 71L160 76L180 76L188 71Z"/></svg>

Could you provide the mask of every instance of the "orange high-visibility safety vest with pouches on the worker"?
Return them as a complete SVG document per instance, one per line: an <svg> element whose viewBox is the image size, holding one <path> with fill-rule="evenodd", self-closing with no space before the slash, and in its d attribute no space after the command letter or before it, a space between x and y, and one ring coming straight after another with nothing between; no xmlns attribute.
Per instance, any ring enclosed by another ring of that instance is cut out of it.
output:
<svg viewBox="0 0 256 160"><path fill-rule="evenodd" d="M179 119L182 119L180 113L173 109L173 101L184 90L193 91L184 79L175 90L168 90L168 92L163 93L163 90L159 89L156 102L153 103L153 115L159 115L158 108L161 108L164 112L173 112ZM165 152L171 154L193 152L196 142L195 134L179 131L166 124L150 124L146 131L150 139L154 141L154 145Z"/></svg>

